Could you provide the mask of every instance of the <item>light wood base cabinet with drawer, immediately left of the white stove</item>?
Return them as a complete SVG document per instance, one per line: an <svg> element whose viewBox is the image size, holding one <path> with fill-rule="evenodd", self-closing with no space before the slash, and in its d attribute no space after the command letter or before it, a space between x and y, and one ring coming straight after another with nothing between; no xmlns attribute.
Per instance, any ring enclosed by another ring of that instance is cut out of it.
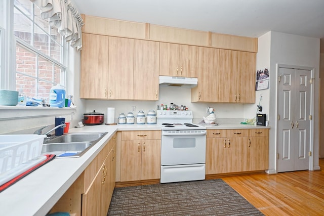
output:
<svg viewBox="0 0 324 216"><path fill-rule="evenodd" d="M161 131L123 131L120 182L160 179Z"/></svg>

